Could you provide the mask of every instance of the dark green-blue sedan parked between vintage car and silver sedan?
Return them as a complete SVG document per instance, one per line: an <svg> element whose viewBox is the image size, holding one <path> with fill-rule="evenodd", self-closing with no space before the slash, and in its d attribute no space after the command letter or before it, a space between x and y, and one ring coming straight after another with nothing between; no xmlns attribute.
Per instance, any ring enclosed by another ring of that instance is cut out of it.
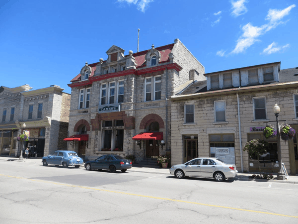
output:
<svg viewBox="0 0 298 224"><path fill-rule="evenodd" d="M86 170L110 170L111 173L115 173L116 170L121 170L124 173L132 167L132 161L119 155L103 155L85 163Z"/></svg>

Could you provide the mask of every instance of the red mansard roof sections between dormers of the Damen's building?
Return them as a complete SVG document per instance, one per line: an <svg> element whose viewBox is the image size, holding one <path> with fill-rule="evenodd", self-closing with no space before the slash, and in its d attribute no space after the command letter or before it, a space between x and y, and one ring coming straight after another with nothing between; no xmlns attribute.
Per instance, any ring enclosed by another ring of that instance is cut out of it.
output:
<svg viewBox="0 0 298 224"><path fill-rule="evenodd" d="M164 46L161 46L161 47L156 47L155 49L158 50L160 52L160 61L159 61L159 64L161 63L164 63L164 62L167 62L168 59L169 59L169 54L172 52L172 49L173 49L173 46L174 44L168 44L168 45L164 45ZM136 63L137 63L137 69L138 68L142 68L145 66L145 55L146 53L148 52L149 50L145 50L145 51L141 51L141 52L137 52L137 53L134 53L133 56L135 57L136 59ZM125 55L125 57L127 57L129 55ZM104 61L106 62L106 61ZM96 69L96 65L98 64L99 62L96 62L96 63L92 63L92 64L89 64L88 66L91 68L91 74L89 75L89 77L92 77L94 75L94 71ZM75 82L75 81L79 81L80 79L80 74L78 74L77 76L75 76L71 82Z"/></svg>

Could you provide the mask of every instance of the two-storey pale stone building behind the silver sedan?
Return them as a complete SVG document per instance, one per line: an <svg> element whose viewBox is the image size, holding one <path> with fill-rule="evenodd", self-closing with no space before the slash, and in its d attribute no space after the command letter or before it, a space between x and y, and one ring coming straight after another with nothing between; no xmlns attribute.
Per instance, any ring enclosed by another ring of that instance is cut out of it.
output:
<svg viewBox="0 0 298 224"><path fill-rule="evenodd" d="M292 175L298 172L298 68L280 70L280 62L204 74L171 98L172 164L194 157L217 157L238 170L278 172L277 138L270 138L269 154L249 157L247 141L264 139L267 124L279 120L296 129L296 137L281 140L282 160ZM280 122L281 124L282 122ZM265 139L264 139L265 140Z"/></svg>

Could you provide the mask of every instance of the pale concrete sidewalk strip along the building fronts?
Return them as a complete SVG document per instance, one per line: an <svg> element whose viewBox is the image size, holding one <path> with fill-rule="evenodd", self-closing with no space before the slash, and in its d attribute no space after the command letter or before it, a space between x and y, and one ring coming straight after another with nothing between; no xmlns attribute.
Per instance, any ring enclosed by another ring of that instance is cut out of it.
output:
<svg viewBox="0 0 298 224"><path fill-rule="evenodd" d="M41 159L23 159L18 160L16 157L4 157L0 156L0 160L6 160L10 162L23 162L28 164L40 164L42 165ZM133 167L129 169L130 172L140 172L140 173L154 173L159 175L170 175L169 168L163 169L163 168L149 168L149 167ZM263 179L252 179L249 178L252 175L252 173L238 173L237 177L235 178L229 178L229 180L237 180L237 181L257 181L257 182L271 182L271 183L287 183L287 184L298 184L298 176L290 176L288 180L263 180ZM256 173L256 175L259 175ZM274 178L276 178L276 175L273 175Z"/></svg>

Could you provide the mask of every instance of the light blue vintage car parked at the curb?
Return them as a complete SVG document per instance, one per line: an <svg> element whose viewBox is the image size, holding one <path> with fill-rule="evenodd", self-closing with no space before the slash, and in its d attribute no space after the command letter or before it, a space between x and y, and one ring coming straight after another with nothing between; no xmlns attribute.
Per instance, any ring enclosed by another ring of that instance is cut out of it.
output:
<svg viewBox="0 0 298 224"><path fill-rule="evenodd" d="M44 166L50 164L56 166L62 165L64 168L68 168L69 166L79 168L83 164L83 160L74 151L59 150L55 151L53 155L42 157L42 164Z"/></svg>

